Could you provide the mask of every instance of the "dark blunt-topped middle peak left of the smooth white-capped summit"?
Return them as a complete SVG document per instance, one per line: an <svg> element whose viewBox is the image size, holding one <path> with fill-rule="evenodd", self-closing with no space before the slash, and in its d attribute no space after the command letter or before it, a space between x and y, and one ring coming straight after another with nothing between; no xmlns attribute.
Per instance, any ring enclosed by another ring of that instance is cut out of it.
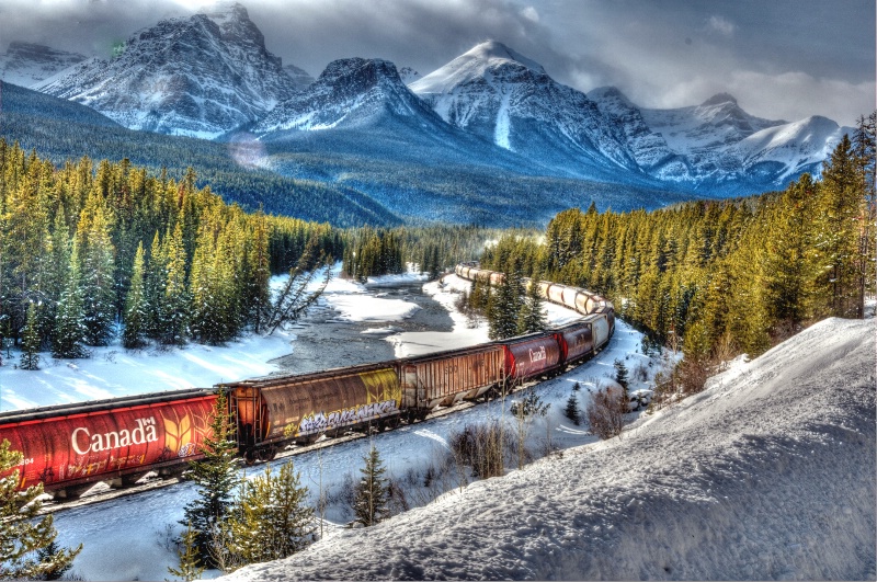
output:
<svg viewBox="0 0 877 582"><path fill-rule="evenodd" d="M437 121L408 90L392 62L340 59L330 62L307 89L278 104L255 125L253 133L265 136L360 127L385 115Z"/></svg>

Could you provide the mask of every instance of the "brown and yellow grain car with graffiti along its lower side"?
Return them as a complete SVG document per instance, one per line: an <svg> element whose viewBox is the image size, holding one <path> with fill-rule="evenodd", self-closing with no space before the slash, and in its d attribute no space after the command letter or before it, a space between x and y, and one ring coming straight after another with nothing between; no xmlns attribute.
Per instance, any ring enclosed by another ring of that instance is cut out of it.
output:
<svg viewBox="0 0 877 582"><path fill-rule="evenodd" d="M244 454L292 438L314 440L345 426L398 416L396 363L225 384Z"/></svg>

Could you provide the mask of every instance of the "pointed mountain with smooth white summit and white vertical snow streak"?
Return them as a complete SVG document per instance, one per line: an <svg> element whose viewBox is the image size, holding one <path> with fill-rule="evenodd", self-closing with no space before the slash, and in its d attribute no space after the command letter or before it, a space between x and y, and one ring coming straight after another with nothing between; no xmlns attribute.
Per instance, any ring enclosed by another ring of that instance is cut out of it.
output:
<svg viewBox="0 0 877 582"><path fill-rule="evenodd" d="M628 180L640 171L595 103L502 43L481 43L410 88L445 122L549 168Z"/></svg>

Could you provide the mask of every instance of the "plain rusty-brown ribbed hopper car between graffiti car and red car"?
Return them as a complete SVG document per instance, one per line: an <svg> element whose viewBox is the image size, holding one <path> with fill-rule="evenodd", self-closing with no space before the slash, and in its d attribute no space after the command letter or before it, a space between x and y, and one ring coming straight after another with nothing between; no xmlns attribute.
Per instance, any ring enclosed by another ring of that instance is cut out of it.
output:
<svg viewBox="0 0 877 582"><path fill-rule="evenodd" d="M399 364L402 406L422 412L477 398L502 383L503 364L499 345L406 360Z"/></svg>

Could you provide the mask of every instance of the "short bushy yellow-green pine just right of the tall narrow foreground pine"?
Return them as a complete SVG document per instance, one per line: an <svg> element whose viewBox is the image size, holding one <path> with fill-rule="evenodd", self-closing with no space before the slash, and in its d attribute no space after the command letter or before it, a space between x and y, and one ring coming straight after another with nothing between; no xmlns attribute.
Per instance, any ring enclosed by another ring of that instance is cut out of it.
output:
<svg viewBox="0 0 877 582"><path fill-rule="evenodd" d="M315 532L307 495L292 463L276 476L266 467L263 475L244 481L228 524L231 552L239 562L280 560L307 547Z"/></svg>

